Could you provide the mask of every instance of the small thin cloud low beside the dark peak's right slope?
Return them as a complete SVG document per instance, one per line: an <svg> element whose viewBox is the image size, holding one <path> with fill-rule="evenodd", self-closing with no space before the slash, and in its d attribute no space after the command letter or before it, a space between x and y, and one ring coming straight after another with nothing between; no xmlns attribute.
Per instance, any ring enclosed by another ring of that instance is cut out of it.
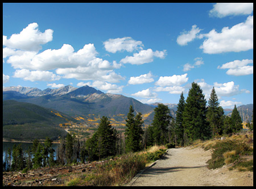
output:
<svg viewBox="0 0 256 189"><path fill-rule="evenodd" d="M94 81L90 86L97 87L97 89L99 90L106 90L107 93L112 93L112 94L121 93L123 90L123 86L117 86L115 84L102 82L102 81Z"/></svg>

